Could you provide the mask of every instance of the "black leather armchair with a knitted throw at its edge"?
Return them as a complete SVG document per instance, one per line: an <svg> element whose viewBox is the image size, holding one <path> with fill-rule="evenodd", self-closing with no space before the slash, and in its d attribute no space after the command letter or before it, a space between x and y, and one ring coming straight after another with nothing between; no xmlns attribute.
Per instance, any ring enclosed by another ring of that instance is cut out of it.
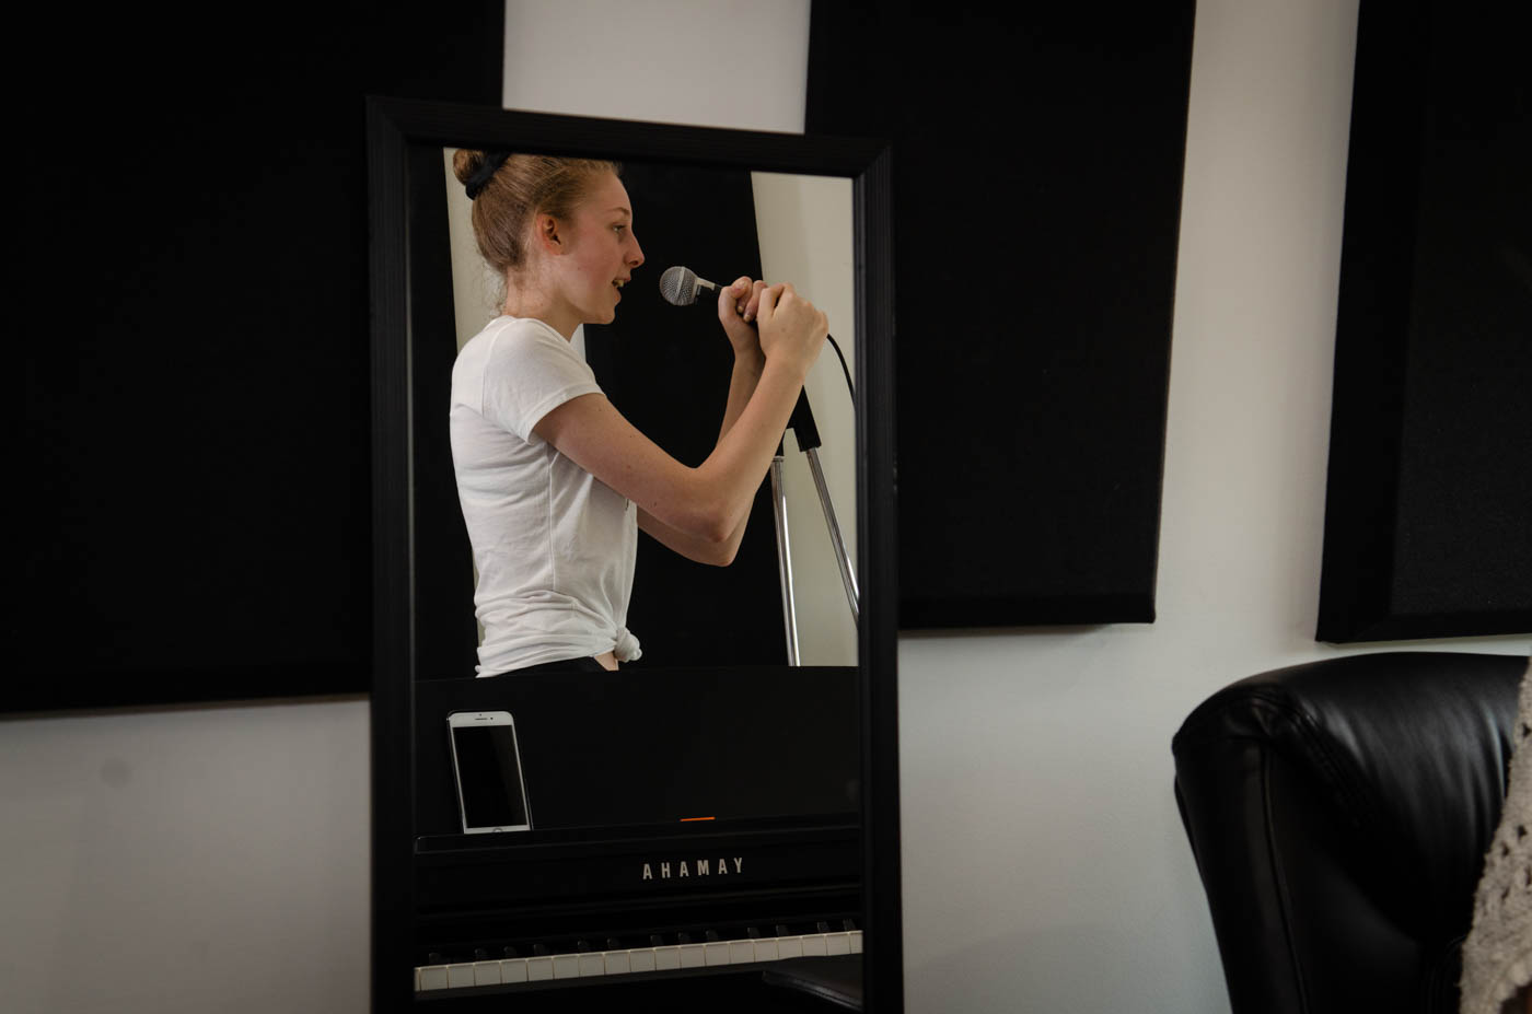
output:
<svg viewBox="0 0 1532 1014"><path fill-rule="evenodd" d="M1526 656L1262 672L1172 741L1235 1014L1455 1014Z"/></svg>

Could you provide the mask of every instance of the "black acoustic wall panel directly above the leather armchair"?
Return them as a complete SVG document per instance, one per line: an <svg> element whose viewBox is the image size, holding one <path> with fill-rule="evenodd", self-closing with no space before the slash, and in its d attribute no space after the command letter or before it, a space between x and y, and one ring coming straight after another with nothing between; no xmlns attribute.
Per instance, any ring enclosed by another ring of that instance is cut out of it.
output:
<svg viewBox="0 0 1532 1014"><path fill-rule="evenodd" d="M1532 631L1529 32L1360 5L1319 640Z"/></svg>

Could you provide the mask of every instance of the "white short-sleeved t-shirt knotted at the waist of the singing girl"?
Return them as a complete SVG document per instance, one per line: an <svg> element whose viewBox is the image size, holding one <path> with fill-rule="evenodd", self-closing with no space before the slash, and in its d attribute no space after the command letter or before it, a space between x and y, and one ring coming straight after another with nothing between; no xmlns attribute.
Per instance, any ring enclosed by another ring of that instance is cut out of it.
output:
<svg viewBox="0 0 1532 1014"><path fill-rule="evenodd" d="M489 322L452 366L452 466L484 626L480 675L640 654L624 626L637 510L532 432L584 394L601 386L581 351L530 317Z"/></svg>

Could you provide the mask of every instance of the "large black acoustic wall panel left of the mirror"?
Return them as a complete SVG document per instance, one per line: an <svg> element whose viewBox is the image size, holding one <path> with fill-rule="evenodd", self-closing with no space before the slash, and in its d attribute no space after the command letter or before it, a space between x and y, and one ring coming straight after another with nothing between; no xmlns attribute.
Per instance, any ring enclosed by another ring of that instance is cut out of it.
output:
<svg viewBox="0 0 1532 1014"><path fill-rule="evenodd" d="M498 106L502 21L14 18L35 63L0 711L369 686L365 96Z"/></svg>

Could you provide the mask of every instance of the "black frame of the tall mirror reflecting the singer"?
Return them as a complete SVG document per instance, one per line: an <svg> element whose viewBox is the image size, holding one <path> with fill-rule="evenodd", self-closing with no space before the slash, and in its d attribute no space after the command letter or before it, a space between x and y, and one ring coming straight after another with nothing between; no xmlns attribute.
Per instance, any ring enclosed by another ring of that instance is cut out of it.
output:
<svg viewBox="0 0 1532 1014"><path fill-rule="evenodd" d="M616 161L843 176L855 263L856 567L861 587L863 982L867 1011L904 1009L899 904L898 533L892 153L869 138L728 130L369 96L372 334L372 1009L412 999L417 602L411 156L536 150ZM397 970L397 971L395 971Z"/></svg>

